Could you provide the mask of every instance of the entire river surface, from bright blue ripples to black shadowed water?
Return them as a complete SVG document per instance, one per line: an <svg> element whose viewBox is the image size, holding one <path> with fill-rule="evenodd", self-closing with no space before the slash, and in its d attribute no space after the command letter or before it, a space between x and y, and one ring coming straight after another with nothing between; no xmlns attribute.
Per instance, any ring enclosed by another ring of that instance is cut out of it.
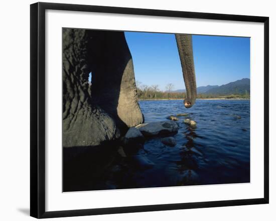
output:
<svg viewBox="0 0 276 221"><path fill-rule="evenodd" d="M178 117L177 145L153 138L127 157L107 146L70 158L64 162L64 191L250 182L249 100L197 100L190 109L181 100L140 106L145 122L189 113ZM195 120L197 127L184 119Z"/></svg>

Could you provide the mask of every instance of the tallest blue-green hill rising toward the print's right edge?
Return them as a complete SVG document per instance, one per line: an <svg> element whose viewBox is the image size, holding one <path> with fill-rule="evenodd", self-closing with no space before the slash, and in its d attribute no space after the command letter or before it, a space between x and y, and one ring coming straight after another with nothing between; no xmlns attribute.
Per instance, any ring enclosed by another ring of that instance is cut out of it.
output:
<svg viewBox="0 0 276 221"><path fill-rule="evenodd" d="M231 95L231 94L250 94L250 79L244 78L226 85L212 88L204 94Z"/></svg>

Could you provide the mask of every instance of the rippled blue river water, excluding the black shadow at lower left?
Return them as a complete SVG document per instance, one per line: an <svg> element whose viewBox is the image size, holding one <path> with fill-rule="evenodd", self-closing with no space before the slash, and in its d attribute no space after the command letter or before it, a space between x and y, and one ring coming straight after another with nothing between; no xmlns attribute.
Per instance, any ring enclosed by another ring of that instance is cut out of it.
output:
<svg viewBox="0 0 276 221"><path fill-rule="evenodd" d="M197 100L186 109L182 100L140 101L145 122L178 117L177 145L148 140L146 157L155 163L140 174L137 186L174 186L250 182L250 101ZM197 122L192 128L184 119ZM147 179L149 177L149 179Z"/></svg>

